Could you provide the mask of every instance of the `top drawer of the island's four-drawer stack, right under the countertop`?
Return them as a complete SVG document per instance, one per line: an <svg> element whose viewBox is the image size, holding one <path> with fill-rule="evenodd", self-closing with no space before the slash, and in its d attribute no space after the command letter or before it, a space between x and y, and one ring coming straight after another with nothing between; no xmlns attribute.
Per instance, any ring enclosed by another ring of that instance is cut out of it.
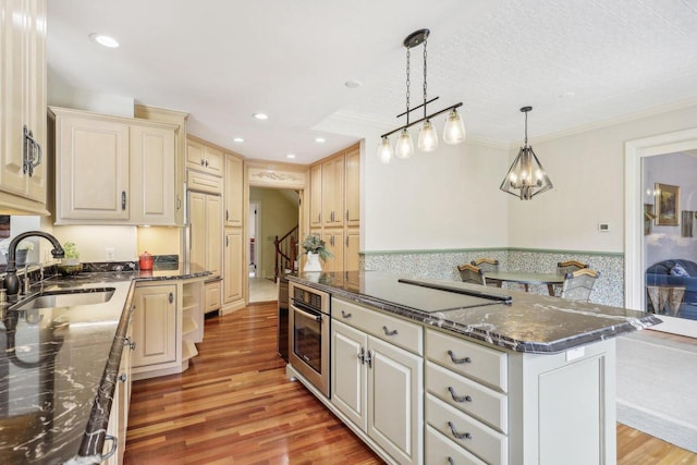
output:
<svg viewBox="0 0 697 465"><path fill-rule="evenodd" d="M508 392L506 354L442 332L426 331L426 357L467 378Z"/></svg>

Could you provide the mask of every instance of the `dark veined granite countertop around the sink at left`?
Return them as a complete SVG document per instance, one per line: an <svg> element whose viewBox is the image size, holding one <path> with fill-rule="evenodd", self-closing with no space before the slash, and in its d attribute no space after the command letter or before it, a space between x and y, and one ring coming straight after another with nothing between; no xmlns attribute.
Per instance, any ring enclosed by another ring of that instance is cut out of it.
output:
<svg viewBox="0 0 697 465"><path fill-rule="evenodd" d="M86 268L96 272L47 278L32 286L32 294L109 287L114 290L109 302L32 310L0 306L0 344L5 348L0 352L2 464L62 464L100 451L134 283L209 276L172 266L152 271Z"/></svg>

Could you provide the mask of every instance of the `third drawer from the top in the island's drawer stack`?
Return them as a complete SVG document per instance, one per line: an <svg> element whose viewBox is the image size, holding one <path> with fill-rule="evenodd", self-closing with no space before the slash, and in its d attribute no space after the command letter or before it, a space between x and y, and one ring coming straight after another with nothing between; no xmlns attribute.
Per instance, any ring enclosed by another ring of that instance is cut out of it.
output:
<svg viewBox="0 0 697 465"><path fill-rule="evenodd" d="M490 464L509 462L509 440L473 417L426 394L426 421Z"/></svg>

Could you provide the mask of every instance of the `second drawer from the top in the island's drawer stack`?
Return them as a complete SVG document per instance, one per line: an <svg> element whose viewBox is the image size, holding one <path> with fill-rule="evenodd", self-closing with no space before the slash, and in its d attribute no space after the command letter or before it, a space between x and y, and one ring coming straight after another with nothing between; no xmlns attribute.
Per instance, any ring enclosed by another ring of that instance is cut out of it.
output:
<svg viewBox="0 0 697 465"><path fill-rule="evenodd" d="M426 390L460 411L505 433L509 402L493 391L432 362L426 363Z"/></svg>

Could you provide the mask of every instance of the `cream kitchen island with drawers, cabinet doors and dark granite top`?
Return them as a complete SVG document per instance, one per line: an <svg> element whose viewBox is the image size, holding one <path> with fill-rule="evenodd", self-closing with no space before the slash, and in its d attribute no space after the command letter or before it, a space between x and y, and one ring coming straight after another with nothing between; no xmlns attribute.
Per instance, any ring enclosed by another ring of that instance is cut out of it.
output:
<svg viewBox="0 0 697 465"><path fill-rule="evenodd" d="M653 316L375 271L289 280L331 295L331 394L289 376L388 463L615 462L613 338Z"/></svg>

